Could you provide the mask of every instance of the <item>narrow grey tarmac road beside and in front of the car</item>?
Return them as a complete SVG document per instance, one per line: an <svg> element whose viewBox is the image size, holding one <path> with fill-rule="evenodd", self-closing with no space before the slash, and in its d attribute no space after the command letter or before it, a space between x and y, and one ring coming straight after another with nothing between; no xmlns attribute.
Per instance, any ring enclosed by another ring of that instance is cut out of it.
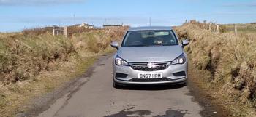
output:
<svg viewBox="0 0 256 117"><path fill-rule="evenodd" d="M90 76L80 78L82 85L64 94L39 117L199 117L203 107L193 101L182 86L145 86L114 89L112 57L94 65Z"/></svg>

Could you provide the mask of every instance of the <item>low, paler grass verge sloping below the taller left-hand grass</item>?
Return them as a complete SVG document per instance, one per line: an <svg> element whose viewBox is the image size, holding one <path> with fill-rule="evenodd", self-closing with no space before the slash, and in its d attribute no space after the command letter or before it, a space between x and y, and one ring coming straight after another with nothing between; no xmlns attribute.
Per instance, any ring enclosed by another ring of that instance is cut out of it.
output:
<svg viewBox="0 0 256 117"><path fill-rule="evenodd" d="M1 97L1 116L15 116L26 108L24 107L30 100L42 94L52 92L57 87L65 84L72 78L83 74L94 64L97 55L85 57L83 60L71 60L73 62L60 62L59 69L45 71L37 76L37 81L22 81L16 84L5 86L7 88L4 96Z"/></svg>

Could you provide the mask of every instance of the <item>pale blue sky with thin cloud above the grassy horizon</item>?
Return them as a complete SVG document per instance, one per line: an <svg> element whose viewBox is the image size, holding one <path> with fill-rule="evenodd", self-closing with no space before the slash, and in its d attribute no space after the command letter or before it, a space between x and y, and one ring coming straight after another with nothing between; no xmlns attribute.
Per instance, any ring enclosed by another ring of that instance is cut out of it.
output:
<svg viewBox="0 0 256 117"><path fill-rule="evenodd" d="M74 18L75 15L75 18ZM0 32L74 23L181 25L256 22L255 0L0 0Z"/></svg>

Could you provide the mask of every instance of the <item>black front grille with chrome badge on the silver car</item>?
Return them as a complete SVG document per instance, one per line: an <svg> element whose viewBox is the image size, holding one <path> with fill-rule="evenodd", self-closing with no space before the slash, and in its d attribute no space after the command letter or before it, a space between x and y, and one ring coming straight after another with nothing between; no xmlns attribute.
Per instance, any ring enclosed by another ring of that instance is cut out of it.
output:
<svg viewBox="0 0 256 117"><path fill-rule="evenodd" d="M155 65L154 68L148 68L148 62L129 62L129 65L134 70L141 71L157 71L157 70L165 70L168 68L168 62L151 62Z"/></svg>

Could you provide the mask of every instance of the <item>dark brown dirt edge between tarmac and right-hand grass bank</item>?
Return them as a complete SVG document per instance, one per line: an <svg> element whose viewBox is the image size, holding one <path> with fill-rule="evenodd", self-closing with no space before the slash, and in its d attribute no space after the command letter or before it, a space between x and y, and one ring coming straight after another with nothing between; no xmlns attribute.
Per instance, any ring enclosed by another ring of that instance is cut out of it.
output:
<svg viewBox="0 0 256 117"><path fill-rule="evenodd" d="M202 73L195 69L194 65L189 62L189 95L192 95L194 98L192 101L198 102L199 105L203 107L203 110L200 110L201 116L207 117L230 117L232 116L231 111L227 110L219 102L217 102L211 94L205 89L200 81L202 78L205 78L205 73Z"/></svg>

